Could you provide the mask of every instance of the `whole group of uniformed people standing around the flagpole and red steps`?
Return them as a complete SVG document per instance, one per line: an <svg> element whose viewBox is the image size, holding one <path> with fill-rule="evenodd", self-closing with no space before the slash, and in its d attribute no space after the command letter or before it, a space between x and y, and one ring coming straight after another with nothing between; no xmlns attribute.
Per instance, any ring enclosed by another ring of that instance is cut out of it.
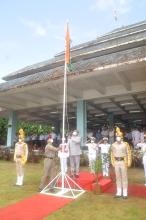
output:
<svg viewBox="0 0 146 220"><path fill-rule="evenodd" d="M61 170L64 175L68 172L68 160L70 162L70 176L79 178L80 174L80 155L81 155L81 137L77 130L74 130L67 136L65 144L59 143L56 147L53 145L56 136L49 134L47 145L44 152L44 175L41 179L39 190L41 191L48 181L54 178L55 158L59 156ZM130 144L133 144L130 146ZM96 161L101 160L102 174L109 176L110 164L115 168L117 192L116 198L128 196L128 178L127 167L131 165L131 149L139 148L143 154L143 164L146 178L146 133L137 128L131 132L121 132L117 127L108 129L103 127L96 133L88 132L87 142L88 160L91 173L95 173ZM23 132L19 135L19 140L15 144L14 160L16 162L17 181L16 185L23 184L24 164L28 158L28 147L24 141ZM146 186L146 182L145 182Z"/></svg>

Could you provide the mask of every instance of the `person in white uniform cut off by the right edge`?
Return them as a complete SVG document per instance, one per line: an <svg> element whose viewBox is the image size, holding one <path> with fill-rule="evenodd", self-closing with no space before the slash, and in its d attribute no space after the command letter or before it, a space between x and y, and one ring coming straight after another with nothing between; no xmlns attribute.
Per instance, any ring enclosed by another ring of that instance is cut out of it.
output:
<svg viewBox="0 0 146 220"><path fill-rule="evenodd" d="M144 133L144 142L138 143L137 146L141 148L141 152L143 154L142 162L143 162L144 174L145 174L144 185L146 186L146 133Z"/></svg>

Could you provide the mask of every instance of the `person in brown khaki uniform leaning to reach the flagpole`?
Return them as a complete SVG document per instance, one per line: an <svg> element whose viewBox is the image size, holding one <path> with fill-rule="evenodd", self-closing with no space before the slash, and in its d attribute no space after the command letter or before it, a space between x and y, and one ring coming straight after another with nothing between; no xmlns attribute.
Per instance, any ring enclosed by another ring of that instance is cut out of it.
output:
<svg viewBox="0 0 146 220"><path fill-rule="evenodd" d="M53 139L51 137L47 140L47 145L45 147L45 159L44 159L44 175L41 179L39 186L39 191L43 190L45 186L51 181L56 174L56 157L57 152L60 148L56 148L52 145Z"/></svg>

